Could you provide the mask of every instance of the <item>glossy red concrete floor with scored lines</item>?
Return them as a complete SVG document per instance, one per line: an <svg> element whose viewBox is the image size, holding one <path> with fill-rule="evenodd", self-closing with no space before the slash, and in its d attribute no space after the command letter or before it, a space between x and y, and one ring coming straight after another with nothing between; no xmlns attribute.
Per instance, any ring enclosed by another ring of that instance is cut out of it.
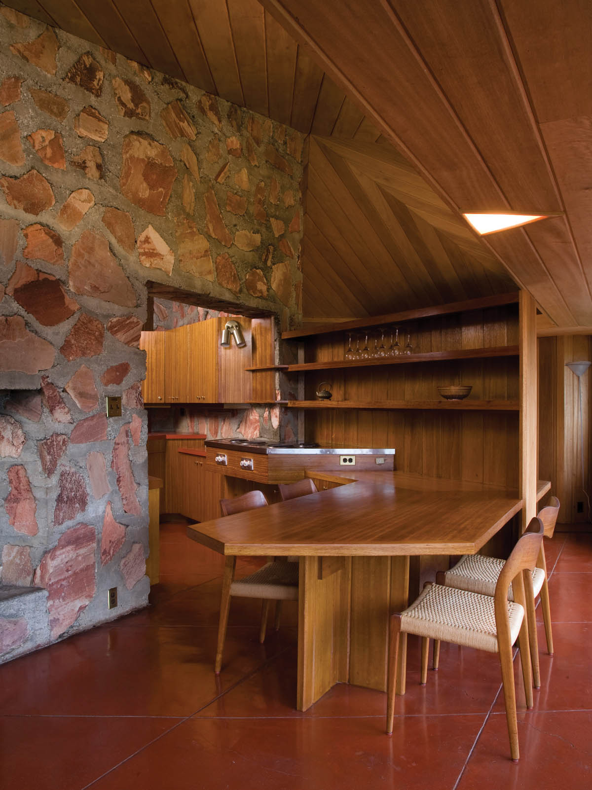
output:
<svg viewBox="0 0 592 790"><path fill-rule="evenodd" d="M0 668L1 790L592 787L592 535L547 544L556 654L540 624L532 711L516 667L518 765L496 656L443 645L420 687L410 644L392 737L379 692L339 685L299 713L296 606L259 645L258 602L233 600L217 679L223 560L179 524L160 556L149 608Z"/></svg>

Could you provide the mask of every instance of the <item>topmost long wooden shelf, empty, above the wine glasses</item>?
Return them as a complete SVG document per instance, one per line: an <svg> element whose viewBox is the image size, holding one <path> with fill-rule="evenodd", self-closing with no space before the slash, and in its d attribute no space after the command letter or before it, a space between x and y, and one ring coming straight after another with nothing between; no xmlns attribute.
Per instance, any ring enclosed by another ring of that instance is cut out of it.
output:
<svg viewBox="0 0 592 790"><path fill-rule="evenodd" d="M354 321L340 321L333 324L317 324L306 329L295 329L291 332L282 332L282 340L296 340L298 337L311 335L325 335L332 332L346 332L348 329L365 329L367 326L381 326L383 324L397 324L405 321L414 321L417 318L431 318L435 315L448 315L451 313L464 313L467 310L482 310L484 307L498 307L504 304L518 302L518 292L509 294L495 294L483 296L481 299L467 299L465 302L451 302L436 305L436 307L420 307L416 310L403 310L400 313L386 315L372 315L369 318L356 318Z"/></svg>

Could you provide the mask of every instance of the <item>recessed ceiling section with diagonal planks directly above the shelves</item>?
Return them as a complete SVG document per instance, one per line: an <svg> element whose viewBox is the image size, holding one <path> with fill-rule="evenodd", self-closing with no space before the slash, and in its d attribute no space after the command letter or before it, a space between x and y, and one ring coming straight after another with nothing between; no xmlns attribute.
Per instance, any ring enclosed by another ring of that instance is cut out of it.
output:
<svg viewBox="0 0 592 790"><path fill-rule="evenodd" d="M464 222L421 179L405 180L408 175L409 165L386 146L311 138L303 245L307 320L342 320L515 288ZM385 182L398 185L396 198ZM456 229L465 246L440 225ZM475 247L480 258L472 254ZM320 278L330 284L324 303ZM331 299L337 293L355 295L358 304Z"/></svg>

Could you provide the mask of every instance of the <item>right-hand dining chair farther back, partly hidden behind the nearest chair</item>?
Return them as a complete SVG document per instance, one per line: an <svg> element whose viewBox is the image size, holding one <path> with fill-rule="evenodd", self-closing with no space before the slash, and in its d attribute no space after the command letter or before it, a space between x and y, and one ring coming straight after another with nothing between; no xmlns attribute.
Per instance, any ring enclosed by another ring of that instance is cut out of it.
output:
<svg viewBox="0 0 592 790"><path fill-rule="evenodd" d="M555 531L560 502L555 496L549 499L549 505L537 513L545 526L545 537L552 538ZM450 570L439 571L436 574L436 583L445 587L479 592L481 595L492 596L496 589L496 582L503 568L503 559L485 557L480 554L464 555ZM545 562L545 548L541 544L541 551L537 559L537 566L533 573L533 595L530 597L526 590L526 616L528 622L528 636L530 639L530 661L533 668L533 683L536 689L541 687L541 672L538 663L537 619L535 615L534 600L541 594L541 608L545 622L545 635L547 650L553 654L553 638L551 631L551 611L549 609L549 585L547 584L547 565ZM510 600L512 588L510 588ZM434 642L432 655L432 668L437 671L439 663L439 641Z"/></svg>

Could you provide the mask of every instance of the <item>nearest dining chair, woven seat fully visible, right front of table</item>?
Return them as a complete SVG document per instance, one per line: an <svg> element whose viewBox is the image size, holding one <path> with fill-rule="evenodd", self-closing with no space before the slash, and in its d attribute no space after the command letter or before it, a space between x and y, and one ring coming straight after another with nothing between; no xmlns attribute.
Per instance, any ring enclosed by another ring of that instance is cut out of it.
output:
<svg viewBox="0 0 592 790"><path fill-rule="evenodd" d="M426 648L429 639L439 639L455 645L486 650L488 653L498 653L500 656L511 758L514 762L518 762L518 724L512 645L518 638L526 707L530 709L533 706L533 689L528 628L524 617L525 589L530 588L532 595L532 570L541 549L544 530L540 518L534 517L530 521L526 532L518 538L511 555L500 570L493 597L428 581L413 604L401 614L391 615L386 704L387 733L393 732L395 684L402 636L416 634L421 638L422 675L427 671ZM510 585L514 591L514 600L508 600Z"/></svg>

